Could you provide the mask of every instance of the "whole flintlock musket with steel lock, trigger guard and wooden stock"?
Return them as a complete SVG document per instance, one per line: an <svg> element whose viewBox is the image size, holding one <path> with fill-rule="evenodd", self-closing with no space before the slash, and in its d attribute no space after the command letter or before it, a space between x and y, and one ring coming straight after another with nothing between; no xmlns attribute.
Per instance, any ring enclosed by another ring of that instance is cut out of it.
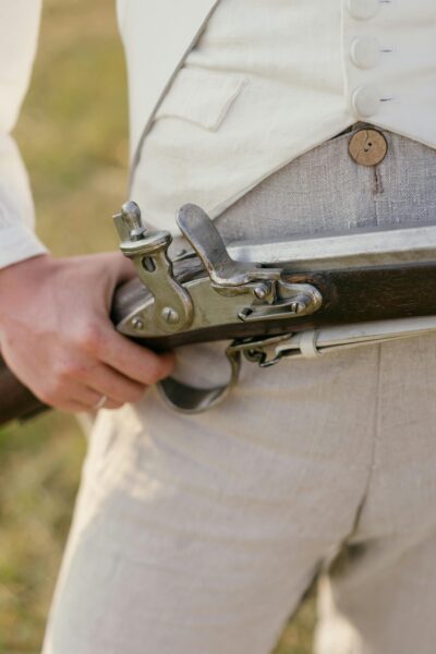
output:
<svg viewBox="0 0 436 654"><path fill-rule="evenodd" d="M170 233L147 231L135 203L114 222L137 272L113 298L120 332L155 351L233 339L226 385L160 383L178 410L222 401L242 355L265 367L436 330L436 226L227 247L205 211L185 205L177 222L192 250L171 261ZM39 407L0 365L0 424Z"/></svg>

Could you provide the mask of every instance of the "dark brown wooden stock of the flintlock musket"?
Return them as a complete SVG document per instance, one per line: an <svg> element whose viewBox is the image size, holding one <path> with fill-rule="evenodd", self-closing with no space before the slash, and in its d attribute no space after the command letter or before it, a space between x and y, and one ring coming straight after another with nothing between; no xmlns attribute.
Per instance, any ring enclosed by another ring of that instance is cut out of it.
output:
<svg viewBox="0 0 436 654"><path fill-rule="evenodd" d="M180 280L207 277L198 262L174 266ZM363 269L344 269L315 275L291 274L289 281L310 281L323 291L320 310L306 317L280 318L227 325L208 325L202 329L181 330L171 336L135 339L155 351L183 344L233 338L274 336L327 325L347 325L371 320L436 315L436 264L409 264ZM112 305L112 320L118 324L140 300L149 296L138 279L120 287ZM48 409L9 371L0 358L0 425L13 419L25 420Z"/></svg>

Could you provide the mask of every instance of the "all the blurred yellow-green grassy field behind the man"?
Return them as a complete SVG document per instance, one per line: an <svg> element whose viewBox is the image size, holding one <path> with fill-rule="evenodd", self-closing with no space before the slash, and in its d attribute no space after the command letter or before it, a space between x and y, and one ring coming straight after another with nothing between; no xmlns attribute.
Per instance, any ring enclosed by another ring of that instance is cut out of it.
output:
<svg viewBox="0 0 436 654"><path fill-rule="evenodd" d="M15 134L31 172L38 233L52 252L116 247L110 215L124 201L128 131L114 0L45 0L33 84ZM40 652L84 455L74 419L60 413L0 431L0 654ZM313 622L312 601L275 654L308 654Z"/></svg>

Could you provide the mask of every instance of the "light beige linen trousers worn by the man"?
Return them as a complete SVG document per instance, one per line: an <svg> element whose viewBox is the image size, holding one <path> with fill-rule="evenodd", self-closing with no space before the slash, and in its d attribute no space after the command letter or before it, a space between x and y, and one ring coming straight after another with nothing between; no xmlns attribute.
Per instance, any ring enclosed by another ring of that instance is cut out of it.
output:
<svg viewBox="0 0 436 654"><path fill-rule="evenodd" d="M436 153L386 133L377 167L343 134L217 219L226 240L436 221ZM221 344L180 376L227 375ZM199 415L154 389L100 411L44 654L267 654L320 574L318 654L433 654L436 338L245 363Z"/></svg>

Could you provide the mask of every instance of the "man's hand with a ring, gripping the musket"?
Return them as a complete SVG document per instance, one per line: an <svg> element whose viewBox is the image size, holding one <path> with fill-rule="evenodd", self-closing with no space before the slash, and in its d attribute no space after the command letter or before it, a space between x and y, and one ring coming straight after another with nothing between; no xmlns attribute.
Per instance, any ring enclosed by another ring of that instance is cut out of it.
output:
<svg viewBox="0 0 436 654"><path fill-rule="evenodd" d="M64 411L140 400L167 377L171 354L157 355L116 331L113 291L134 276L119 253L26 259L0 270L0 343L11 371L40 400Z"/></svg>

